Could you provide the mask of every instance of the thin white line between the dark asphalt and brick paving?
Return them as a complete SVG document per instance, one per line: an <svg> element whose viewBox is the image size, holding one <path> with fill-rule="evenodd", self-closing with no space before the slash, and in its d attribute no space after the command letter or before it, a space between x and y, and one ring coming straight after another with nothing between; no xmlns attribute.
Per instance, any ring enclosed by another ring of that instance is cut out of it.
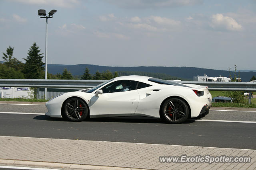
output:
<svg viewBox="0 0 256 170"><path fill-rule="evenodd" d="M54 138L42 138L42 137L19 137L19 136L0 136L0 137L16 137L16 138L29 138L29 139L51 139L51 140L77 141L76 139L54 139ZM88 140L80 140L80 141L88 141ZM111 141L88 141L88 142L129 143L129 144L164 145L164 146L176 146L176 147L197 147L197 146L189 146L189 145L165 145L165 144L153 144L153 143L111 142ZM202 147L202 146L199 146L199 147ZM237 149L237 148L218 148L218 147L202 147L202 148ZM256 151L256 149L238 149L238 150L253 150L253 151Z"/></svg>

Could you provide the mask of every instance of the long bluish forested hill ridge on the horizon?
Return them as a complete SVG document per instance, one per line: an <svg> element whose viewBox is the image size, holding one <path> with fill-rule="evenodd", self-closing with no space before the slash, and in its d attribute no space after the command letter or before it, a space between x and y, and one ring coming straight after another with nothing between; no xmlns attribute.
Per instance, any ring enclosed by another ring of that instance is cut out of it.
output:
<svg viewBox="0 0 256 170"><path fill-rule="evenodd" d="M94 74L97 70L99 72L110 70L115 71L138 71L138 72L151 72L151 73L164 73L174 77L180 77L184 79L193 80L194 76L203 76L204 74L216 77L226 76L229 77L229 71L226 70L214 70L207 68L196 67L164 67L164 66L136 66L136 67L119 67L119 66L98 66L92 64L77 64L77 65L63 65L63 64L48 64L48 72L52 74L62 73L64 68L70 70L73 75L82 75L84 69L88 67L91 74ZM256 72L243 71L240 72L242 81L250 81L252 76L256 76ZM233 75L232 75L233 76Z"/></svg>

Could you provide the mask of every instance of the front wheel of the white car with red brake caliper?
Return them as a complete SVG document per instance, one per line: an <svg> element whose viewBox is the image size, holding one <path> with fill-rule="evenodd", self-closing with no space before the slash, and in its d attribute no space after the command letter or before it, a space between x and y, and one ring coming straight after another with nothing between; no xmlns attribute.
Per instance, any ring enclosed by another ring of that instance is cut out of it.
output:
<svg viewBox="0 0 256 170"><path fill-rule="evenodd" d="M62 111L64 117L70 121L84 121L89 113L87 104L77 97L66 100L62 106Z"/></svg>

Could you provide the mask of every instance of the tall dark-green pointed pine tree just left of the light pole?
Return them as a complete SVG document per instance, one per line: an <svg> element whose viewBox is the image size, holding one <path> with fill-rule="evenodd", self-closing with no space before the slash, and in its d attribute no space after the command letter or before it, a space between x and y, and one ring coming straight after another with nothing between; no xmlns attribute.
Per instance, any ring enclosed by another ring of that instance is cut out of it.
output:
<svg viewBox="0 0 256 170"><path fill-rule="evenodd" d="M43 54L40 53L39 47L36 45L36 43L33 43L33 45L28 50L28 56L24 68L23 73L25 75L26 79L42 79L44 78L44 63L42 61Z"/></svg>

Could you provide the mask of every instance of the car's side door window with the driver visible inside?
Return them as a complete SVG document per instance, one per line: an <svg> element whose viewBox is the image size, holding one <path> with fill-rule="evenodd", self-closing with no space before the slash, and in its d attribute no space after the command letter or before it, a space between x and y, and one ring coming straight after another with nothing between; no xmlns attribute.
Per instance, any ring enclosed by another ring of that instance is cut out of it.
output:
<svg viewBox="0 0 256 170"><path fill-rule="evenodd" d="M119 80L102 88L103 93L125 92L136 89L137 82L133 80Z"/></svg>

